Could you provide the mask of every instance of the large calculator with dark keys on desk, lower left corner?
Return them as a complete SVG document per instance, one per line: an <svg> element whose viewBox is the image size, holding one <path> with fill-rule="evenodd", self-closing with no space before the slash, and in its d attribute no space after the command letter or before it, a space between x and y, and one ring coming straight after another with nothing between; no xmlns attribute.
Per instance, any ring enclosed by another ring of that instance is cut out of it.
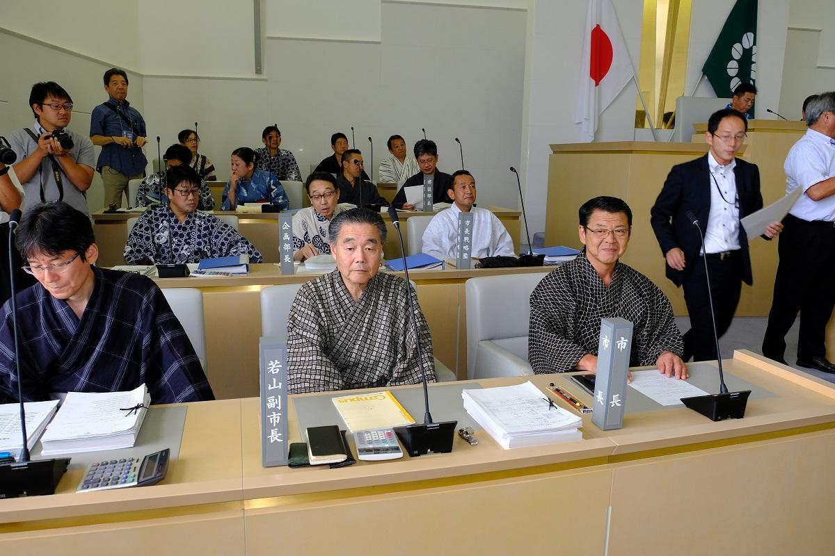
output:
<svg viewBox="0 0 835 556"><path fill-rule="evenodd" d="M142 458L117 458L90 465L78 485L78 493L114 488L145 487L159 483L168 471L170 448L149 453Z"/></svg>

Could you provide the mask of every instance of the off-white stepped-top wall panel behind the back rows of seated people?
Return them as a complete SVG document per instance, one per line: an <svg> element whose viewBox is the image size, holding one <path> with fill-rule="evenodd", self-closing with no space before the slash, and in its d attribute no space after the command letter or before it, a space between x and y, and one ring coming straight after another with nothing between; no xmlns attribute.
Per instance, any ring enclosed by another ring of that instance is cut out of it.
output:
<svg viewBox="0 0 835 556"><path fill-rule="evenodd" d="M303 175L331 153L336 131L350 140L353 126L367 162L372 136L376 167L390 135L411 148L426 128L438 143L438 168L460 168L458 137L479 203L518 207L508 168L519 166L524 11L381 8L380 43L267 40L261 81L146 77L149 130L165 148L199 121L201 151L225 177L231 151L260 146L270 123L278 123L281 147L295 153Z"/></svg>

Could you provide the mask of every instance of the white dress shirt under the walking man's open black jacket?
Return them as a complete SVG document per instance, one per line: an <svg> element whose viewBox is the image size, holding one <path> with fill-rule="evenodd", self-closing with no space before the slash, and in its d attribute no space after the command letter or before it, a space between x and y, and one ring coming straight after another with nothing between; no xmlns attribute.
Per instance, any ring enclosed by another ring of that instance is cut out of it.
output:
<svg viewBox="0 0 835 556"><path fill-rule="evenodd" d="M707 217L705 253L735 251L739 246L739 198L736 195L736 159L721 166L707 153L711 173L711 212Z"/></svg>

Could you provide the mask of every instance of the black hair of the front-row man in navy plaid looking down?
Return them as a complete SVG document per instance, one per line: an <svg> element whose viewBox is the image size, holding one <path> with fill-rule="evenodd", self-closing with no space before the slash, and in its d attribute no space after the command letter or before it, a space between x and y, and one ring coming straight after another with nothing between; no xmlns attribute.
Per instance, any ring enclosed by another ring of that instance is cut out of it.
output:
<svg viewBox="0 0 835 556"><path fill-rule="evenodd" d="M74 251L86 261L85 252L94 242L90 218L63 201L35 205L23 215L15 233L15 244L24 259L38 252L57 257L63 251Z"/></svg>

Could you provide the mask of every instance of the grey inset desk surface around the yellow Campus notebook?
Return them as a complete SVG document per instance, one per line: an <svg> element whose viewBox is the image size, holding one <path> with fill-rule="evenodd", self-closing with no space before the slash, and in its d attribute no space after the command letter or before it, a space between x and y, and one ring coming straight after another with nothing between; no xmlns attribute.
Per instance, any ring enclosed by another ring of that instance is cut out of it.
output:
<svg viewBox="0 0 835 556"><path fill-rule="evenodd" d="M463 408L461 391L464 388L481 388L478 383L447 383L432 384L429 386L429 411L432 413L433 421L458 421L458 428L478 426L473 418ZM379 388L381 391L387 388ZM392 390L397 401L412 415L416 423L423 423L423 388L401 388ZM309 396L305 398L292 398L296 408L296 420L299 422L301 438L305 438L305 429L308 427L321 427L323 425L339 425L339 428L346 428L345 422L339 415L336 406L331 402L333 398L342 398L346 392L333 392L330 395Z"/></svg>

